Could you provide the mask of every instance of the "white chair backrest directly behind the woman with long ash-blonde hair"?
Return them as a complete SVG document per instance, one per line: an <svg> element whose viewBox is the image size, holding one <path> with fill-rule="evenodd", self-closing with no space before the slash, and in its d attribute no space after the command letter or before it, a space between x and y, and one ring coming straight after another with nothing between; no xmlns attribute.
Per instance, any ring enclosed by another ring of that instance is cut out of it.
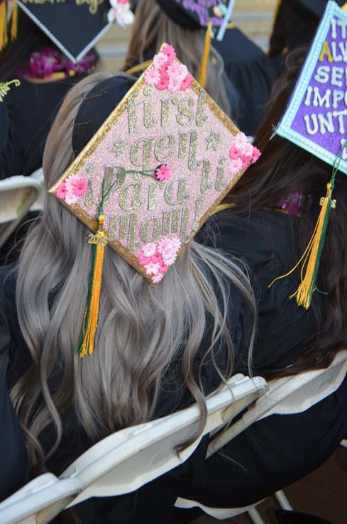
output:
<svg viewBox="0 0 347 524"><path fill-rule="evenodd" d="M204 431L193 444L177 453L177 445L194 435L199 424L197 405L145 424L129 427L106 437L73 462L60 476L78 479L82 492L70 504L92 496L129 493L182 464L202 437L223 426L267 388L263 378L242 375L207 399L208 418Z"/></svg>

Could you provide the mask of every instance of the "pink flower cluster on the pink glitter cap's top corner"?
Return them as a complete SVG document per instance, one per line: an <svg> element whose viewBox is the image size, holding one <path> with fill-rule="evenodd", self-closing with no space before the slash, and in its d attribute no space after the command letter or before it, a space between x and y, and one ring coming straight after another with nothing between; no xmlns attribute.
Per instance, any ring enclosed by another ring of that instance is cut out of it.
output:
<svg viewBox="0 0 347 524"><path fill-rule="evenodd" d="M175 61L176 53L172 45L166 44L153 58L153 65L145 73L145 82L160 91L170 93L185 91L192 84L193 77L187 66Z"/></svg>

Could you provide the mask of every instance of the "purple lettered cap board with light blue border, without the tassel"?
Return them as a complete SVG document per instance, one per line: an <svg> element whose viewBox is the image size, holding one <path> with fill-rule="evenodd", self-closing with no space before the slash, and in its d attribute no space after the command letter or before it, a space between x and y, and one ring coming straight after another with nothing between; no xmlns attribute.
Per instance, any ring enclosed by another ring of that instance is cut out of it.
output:
<svg viewBox="0 0 347 524"><path fill-rule="evenodd" d="M347 13L329 1L277 133L334 165L347 138ZM347 154L339 170L347 174Z"/></svg>

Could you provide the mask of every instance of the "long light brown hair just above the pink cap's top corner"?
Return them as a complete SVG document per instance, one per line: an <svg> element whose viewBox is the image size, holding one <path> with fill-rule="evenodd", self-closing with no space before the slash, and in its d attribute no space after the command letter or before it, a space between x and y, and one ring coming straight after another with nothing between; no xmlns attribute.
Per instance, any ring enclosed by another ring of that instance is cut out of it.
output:
<svg viewBox="0 0 347 524"><path fill-rule="evenodd" d="M182 28L167 16L156 0L140 0L136 6L123 70L126 71L136 61L148 60L158 53L160 45L166 42L173 45L177 58L187 65L189 72L197 78L205 33L205 28ZM230 102L222 80L223 72L223 59L211 48L206 91L226 114L230 114Z"/></svg>

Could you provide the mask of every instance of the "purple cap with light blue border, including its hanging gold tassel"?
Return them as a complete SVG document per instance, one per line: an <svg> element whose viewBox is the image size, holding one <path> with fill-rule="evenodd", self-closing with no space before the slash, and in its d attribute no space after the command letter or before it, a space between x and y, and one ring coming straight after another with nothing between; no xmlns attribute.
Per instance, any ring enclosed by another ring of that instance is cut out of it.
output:
<svg viewBox="0 0 347 524"><path fill-rule="evenodd" d="M326 5L277 134L332 168L314 234L292 270L301 266L302 275L302 282L292 297L297 298L298 305L308 308L316 290L329 216L336 207L332 198L336 173L341 171L347 175L347 12L334 1Z"/></svg>

